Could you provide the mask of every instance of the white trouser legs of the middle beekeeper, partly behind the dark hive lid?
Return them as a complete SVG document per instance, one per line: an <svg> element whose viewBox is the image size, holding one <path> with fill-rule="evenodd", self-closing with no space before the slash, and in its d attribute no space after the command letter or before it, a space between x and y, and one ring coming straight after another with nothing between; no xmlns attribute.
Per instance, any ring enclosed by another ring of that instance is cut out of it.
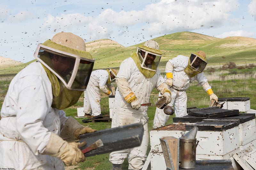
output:
<svg viewBox="0 0 256 170"><path fill-rule="evenodd" d="M132 123L143 123L144 134L142 137L141 145L138 147L124 149L120 151L111 152L109 155L109 161L112 164L122 164L124 159L127 157L129 167L128 169L138 170L144 165L143 161L147 158L148 149L148 117L143 116L141 112L134 113L134 109L123 109L123 111L117 111L116 108L113 110L112 117L112 128ZM129 112L130 110L130 112ZM121 112L120 112L121 111ZM133 113L132 113L133 112Z"/></svg>

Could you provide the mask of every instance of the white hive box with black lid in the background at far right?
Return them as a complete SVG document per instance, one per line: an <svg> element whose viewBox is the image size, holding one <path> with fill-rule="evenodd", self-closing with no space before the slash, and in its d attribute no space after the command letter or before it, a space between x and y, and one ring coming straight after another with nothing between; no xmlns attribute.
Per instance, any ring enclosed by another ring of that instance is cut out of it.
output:
<svg viewBox="0 0 256 170"><path fill-rule="evenodd" d="M223 109L239 109L240 112L250 110L250 98L248 97L219 98L218 101L225 101Z"/></svg>

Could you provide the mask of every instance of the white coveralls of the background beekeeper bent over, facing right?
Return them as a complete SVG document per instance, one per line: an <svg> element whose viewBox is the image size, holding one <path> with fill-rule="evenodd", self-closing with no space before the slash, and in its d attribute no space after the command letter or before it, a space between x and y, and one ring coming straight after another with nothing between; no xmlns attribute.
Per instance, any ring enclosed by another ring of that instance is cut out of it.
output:
<svg viewBox="0 0 256 170"><path fill-rule="evenodd" d="M84 113L92 116L98 116L100 109L100 90L104 93L109 92L105 85L108 81L107 70L92 71L86 90L84 91ZM111 84L108 85L111 90Z"/></svg>

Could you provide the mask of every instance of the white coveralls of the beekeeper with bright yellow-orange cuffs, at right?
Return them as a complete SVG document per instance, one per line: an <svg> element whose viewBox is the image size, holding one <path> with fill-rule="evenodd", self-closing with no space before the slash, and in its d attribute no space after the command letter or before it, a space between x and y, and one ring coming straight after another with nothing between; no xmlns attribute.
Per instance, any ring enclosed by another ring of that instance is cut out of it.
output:
<svg viewBox="0 0 256 170"><path fill-rule="evenodd" d="M178 55L168 61L173 65L173 70L170 70L173 74L173 83L170 88L172 100L168 105L174 106L176 117L188 115L186 90L189 87L189 83L196 80L199 85L204 85L204 83L207 82L203 72L196 74L194 77L190 77L185 73L184 70L188 66L188 59L189 58L187 56ZM211 87L209 86L209 88ZM170 115L166 115L163 109L156 108L153 127L159 128L164 126L169 117Z"/></svg>

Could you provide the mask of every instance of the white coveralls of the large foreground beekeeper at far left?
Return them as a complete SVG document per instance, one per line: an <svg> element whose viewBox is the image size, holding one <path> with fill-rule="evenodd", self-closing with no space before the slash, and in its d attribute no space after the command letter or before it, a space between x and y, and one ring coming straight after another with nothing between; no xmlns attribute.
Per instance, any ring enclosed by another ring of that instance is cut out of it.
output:
<svg viewBox="0 0 256 170"><path fill-rule="evenodd" d="M41 63L29 64L12 79L1 109L1 168L64 170L60 158L41 154L51 133L60 135L68 119L51 105L52 85Z"/></svg>

